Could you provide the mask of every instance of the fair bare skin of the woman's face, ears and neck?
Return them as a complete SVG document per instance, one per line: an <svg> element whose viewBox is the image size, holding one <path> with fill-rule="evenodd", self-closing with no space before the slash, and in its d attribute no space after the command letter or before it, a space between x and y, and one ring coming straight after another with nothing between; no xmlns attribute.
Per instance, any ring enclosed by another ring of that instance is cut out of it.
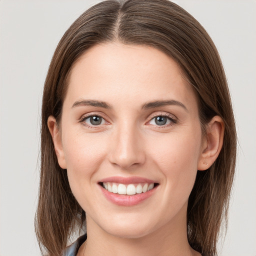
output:
<svg viewBox="0 0 256 256"><path fill-rule="evenodd" d="M73 106L81 100L110 108ZM156 100L183 106L142 108ZM214 116L202 137L196 96L176 62L149 46L95 45L73 65L62 110L60 123L49 116L48 127L86 212L87 240L78 255L200 255L187 241L187 201L197 170L207 169L221 149L224 125ZM93 126L89 115L102 122ZM155 117L165 115L166 124L157 125ZM159 185L144 201L120 206L98 185L110 176Z"/></svg>

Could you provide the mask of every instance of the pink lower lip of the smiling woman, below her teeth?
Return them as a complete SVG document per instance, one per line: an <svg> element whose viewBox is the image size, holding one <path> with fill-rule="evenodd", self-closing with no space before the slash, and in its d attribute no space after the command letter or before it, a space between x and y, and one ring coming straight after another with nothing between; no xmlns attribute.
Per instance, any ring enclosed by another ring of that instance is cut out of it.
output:
<svg viewBox="0 0 256 256"><path fill-rule="evenodd" d="M140 193L140 194L133 194L133 195L125 195L125 194L117 194L117 193L112 193L103 188L101 185L99 185L101 188L101 191L103 192L104 196L111 202L120 205L120 206L132 206L139 204L140 202L144 201L148 197L150 197L154 191L155 188L152 188L145 193Z"/></svg>

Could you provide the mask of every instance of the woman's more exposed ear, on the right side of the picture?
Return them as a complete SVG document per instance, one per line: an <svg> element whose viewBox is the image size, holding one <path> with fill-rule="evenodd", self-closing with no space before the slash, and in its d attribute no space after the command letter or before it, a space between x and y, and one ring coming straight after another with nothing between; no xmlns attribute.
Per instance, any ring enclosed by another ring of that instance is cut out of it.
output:
<svg viewBox="0 0 256 256"><path fill-rule="evenodd" d="M216 160L223 145L223 137L224 122L220 116L215 115L206 125L206 136L197 164L198 170L208 169Z"/></svg>

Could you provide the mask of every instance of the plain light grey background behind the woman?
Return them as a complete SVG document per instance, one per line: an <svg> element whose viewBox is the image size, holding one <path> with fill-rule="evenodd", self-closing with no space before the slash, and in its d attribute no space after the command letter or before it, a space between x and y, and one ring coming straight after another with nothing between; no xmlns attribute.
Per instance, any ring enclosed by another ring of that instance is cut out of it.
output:
<svg viewBox="0 0 256 256"><path fill-rule="evenodd" d="M0 256L39 255L40 104L52 53L95 0L0 0ZM256 255L256 1L176 0L206 28L228 78L239 138L222 256ZM219 243L221 251L221 243Z"/></svg>

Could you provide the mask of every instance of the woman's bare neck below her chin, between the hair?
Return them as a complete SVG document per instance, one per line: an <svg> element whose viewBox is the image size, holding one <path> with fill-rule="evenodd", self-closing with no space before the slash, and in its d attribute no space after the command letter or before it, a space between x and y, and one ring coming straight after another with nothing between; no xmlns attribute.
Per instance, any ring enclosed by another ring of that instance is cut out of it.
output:
<svg viewBox="0 0 256 256"><path fill-rule="evenodd" d="M200 255L189 246L185 215L178 215L164 226L137 238L118 237L107 233L89 216L86 216L86 225L86 244L81 246L78 255Z"/></svg>

